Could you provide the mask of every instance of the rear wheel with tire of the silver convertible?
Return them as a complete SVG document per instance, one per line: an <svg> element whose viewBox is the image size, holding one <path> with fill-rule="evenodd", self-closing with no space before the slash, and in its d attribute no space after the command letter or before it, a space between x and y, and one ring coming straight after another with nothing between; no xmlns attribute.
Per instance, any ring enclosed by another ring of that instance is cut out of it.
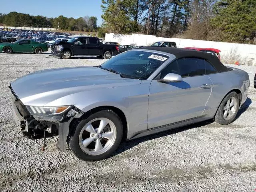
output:
<svg viewBox="0 0 256 192"><path fill-rule="evenodd" d="M239 104L238 94L236 92L229 93L220 103L215 115L215 122L221 125L230 124L236 118Z"/></svg>

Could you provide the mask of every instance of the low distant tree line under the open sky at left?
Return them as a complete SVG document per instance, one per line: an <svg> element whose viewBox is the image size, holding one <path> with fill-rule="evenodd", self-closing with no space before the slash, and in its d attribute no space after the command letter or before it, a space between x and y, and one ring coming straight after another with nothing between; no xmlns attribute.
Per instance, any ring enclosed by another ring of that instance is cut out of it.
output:
<svg viewBox="0 0 256 192"><path fill-rule="evenodd" d="M17 27L45 27L59 28L69 31L90 31L97 30L97 18L95 16L84 16L78 19L58 16L56 18L47 18L44 16L31 16L29 14L10 12L8 14L0 13L0 24Z"/></svg>

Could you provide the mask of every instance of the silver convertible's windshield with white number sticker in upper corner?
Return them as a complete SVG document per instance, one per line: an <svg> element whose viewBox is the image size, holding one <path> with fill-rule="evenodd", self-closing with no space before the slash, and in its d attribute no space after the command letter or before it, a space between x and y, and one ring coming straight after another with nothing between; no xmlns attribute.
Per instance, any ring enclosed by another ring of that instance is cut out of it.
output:
<svg viewBox="0 0 256 192"><path fill-rule="evenodd" d="M107 60L101 67L115 71L125 78L146 80L168 58L158 53L128 51Z"/></svg>

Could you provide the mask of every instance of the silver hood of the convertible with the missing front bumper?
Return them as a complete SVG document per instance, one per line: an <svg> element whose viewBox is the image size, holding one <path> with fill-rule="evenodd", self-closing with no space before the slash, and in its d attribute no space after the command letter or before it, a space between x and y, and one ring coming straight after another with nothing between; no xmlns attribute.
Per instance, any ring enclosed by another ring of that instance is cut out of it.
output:
<svg viewBox="0 0 256 192"><path fill-rule="evenodd" d="M45 106L77 92L140 83L97 67L74 67L30 73L12 82L11 88L24 105Z"/></svg>

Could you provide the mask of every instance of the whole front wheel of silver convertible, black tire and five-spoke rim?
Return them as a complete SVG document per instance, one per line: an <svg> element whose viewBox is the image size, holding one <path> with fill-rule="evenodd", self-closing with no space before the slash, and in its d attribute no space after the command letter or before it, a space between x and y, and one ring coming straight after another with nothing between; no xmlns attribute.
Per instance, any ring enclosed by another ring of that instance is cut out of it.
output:
<svg viewBox="0 0 256 192"><path fill-rule="evenodd" d="M99 161L109 157L116 150L122 136L122 121L115 112L106 109L81 120L74 135L70 137L69 145L78 158Z"/></svg>

